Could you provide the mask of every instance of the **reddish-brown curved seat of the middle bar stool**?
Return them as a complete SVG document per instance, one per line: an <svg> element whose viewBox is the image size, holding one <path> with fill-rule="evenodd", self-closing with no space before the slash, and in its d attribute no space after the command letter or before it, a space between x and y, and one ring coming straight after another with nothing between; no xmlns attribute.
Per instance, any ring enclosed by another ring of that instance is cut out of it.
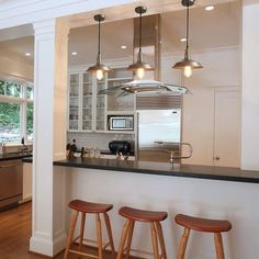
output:
<svg viewBox="0 0 259 259"><path fill-rule="evenodd" d="M130 206L121 207L119 214L138 222L161 222L167 218L167 212L137 210Z"/></svg>

